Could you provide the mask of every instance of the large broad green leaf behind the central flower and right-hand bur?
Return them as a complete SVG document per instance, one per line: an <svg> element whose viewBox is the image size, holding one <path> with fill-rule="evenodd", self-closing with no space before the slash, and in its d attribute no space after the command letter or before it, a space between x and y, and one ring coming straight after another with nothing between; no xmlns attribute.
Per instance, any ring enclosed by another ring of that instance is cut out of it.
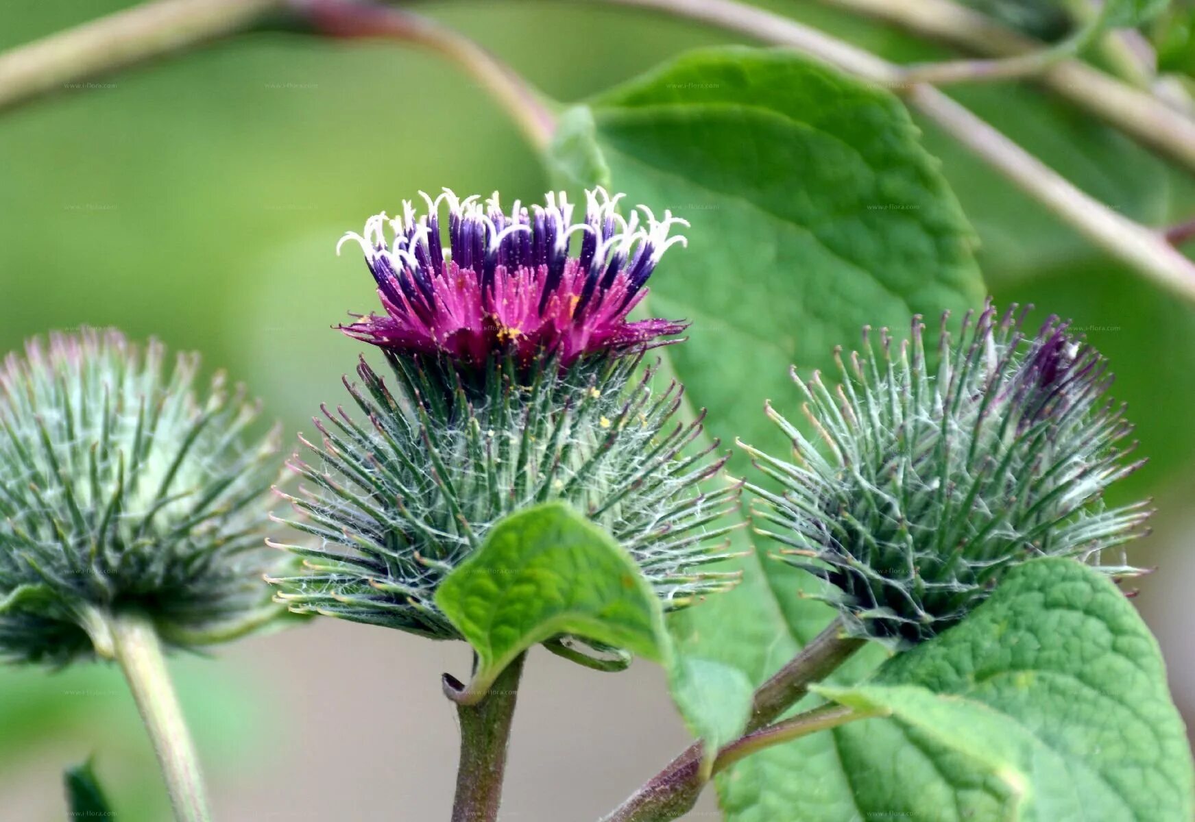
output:
<svg viewBox="0 0 1195 822"><path fill-rule="evenodd" d="M664 370L723 438L783 448L762 404L796 405L791 363L825 368L864 325L903 330L982 297L970 231L901 104L791 53L684 56L569 111L549 161L571 185L603 183L692 223L652 277L651 309L693 320ZM766 552L741 560L735 591L670 619L684 652L755 683L831 619L802 599L809 578ZM868 649L845 675L882 656ZM744 760L719 792L736 821L853 814L832 734Z"/></svg>

